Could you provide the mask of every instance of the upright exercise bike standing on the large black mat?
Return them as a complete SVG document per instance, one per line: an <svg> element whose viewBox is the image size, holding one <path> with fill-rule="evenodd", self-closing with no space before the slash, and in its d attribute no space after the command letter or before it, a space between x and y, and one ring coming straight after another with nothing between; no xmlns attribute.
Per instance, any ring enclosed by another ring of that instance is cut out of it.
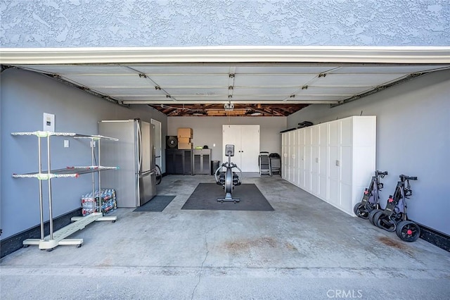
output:
<svg viewBox="0 0 450 300"><path fill-rule="evenodd" d="M222 163L222 165L217 168L214 177L216 178L217 185L221 185L225 189L224 198L217 198L217 202L234 202L240 201L239 198L233 198L232 192L234 187L240 185L239 176L233 172L233 168L236 168L240 172L240 177L242 177L242 171L238 168L238 165L231 163L231 156L234 156L234 145L225 146L225 154L228 156L228 162ZM221 168L226 168L225 172L219 172Z"/></svg>

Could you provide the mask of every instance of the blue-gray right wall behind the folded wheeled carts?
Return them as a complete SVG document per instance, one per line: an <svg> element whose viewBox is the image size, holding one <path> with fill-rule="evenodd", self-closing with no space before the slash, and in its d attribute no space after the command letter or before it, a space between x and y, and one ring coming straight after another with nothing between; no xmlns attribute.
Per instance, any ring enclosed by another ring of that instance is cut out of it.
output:
<svg viewBox="0 0 450 300"><path fill-rule="evenodd" d="M349 104L313 105L288 117L288 127L303 120L321 123L349 115L377 116L378 170L387 170L382 204L398 175L411 182L409 217L450 235L450 70L418 77Z"/></svg>

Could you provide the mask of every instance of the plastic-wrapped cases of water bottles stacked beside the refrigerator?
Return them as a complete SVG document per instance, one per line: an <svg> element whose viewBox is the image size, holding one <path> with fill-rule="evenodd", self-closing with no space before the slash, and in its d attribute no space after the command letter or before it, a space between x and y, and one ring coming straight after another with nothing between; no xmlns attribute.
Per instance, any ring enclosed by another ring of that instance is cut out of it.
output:
<svg viewBox="0 0 450 300"><path fill-rule="evenodd" d="M101 193L95 192L95 202L92 192L82 196L82 214L83 216L89 215L95 211L98 212L99 200L101 197L101 211L106 214L117 208L117 200L115 197L114 189L101 189Z"/></svg>

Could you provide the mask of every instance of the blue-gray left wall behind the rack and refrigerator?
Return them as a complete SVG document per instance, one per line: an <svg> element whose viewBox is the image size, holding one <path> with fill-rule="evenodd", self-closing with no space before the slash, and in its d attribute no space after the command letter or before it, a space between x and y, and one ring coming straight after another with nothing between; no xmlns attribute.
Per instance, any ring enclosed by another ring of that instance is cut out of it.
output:
<svg viewBox="0 0 450 300"><path fill-rule="evenodd" d="M8 69L1 73L1 239L39 224L39 185L37 179L14 179L13 173L38 170L37 137L13 137L11 132L42 130L43 113L56 115L57 132L98 134L99 120L151 118L162 122L162 135L167 132L167 117L148 106L124 108L79 89L68 87L43 75ZM91 150L86 140L51 139L51 167L91 165ZM46 142L46 141L45 141ZM46 146L43 147L46 154ZM44 155L43 167L46 166ZM44 169L46 169L44 167ZM91 191L91 175L79 178L56 178L52 181L53 216L80 207L79 196ZM44 181L44 195L47 182ZM45 197L46 199L46 197ZM49 219L48 201L44 201L45 219Z"/></svg>

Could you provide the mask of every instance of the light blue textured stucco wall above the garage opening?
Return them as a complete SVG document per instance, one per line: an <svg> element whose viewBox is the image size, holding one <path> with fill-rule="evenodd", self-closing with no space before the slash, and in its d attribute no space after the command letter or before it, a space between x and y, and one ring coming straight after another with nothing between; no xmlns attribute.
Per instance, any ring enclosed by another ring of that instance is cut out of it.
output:
<svg viewBox="0 0 450 300"><path fill-rule="evenodd" d="M1 0L3 47L448 46L449 0Z"/></svg>

